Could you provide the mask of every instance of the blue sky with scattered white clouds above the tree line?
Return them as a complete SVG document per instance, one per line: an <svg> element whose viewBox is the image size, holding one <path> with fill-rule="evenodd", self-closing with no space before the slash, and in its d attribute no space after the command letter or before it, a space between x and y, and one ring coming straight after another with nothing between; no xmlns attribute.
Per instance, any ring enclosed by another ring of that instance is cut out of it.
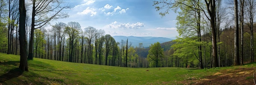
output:
<svg viewBox="0 0 256 85"><path fill-rule="evenodd" d="M175 38L178 36L176 16L170 12L159 15L154 0L64 0L72 8L65 9L69 17L56 22L75 21L81 28L92 26L105 30L111 36L154 36ZM164 11L164 10L163 10Z"/></svg>

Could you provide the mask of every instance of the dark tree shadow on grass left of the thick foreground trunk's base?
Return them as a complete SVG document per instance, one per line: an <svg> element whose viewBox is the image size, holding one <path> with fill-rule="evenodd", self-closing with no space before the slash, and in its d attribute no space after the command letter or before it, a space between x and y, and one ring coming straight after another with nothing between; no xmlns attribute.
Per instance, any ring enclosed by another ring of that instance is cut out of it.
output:
<svg viewBox="0 0 256 85"><path fill-rule="evenodd" d="M1 75L0 82L5 82L10 79L19 77L22 73L23 73L23 71L20 70L20 68L14 68L14 69L10 70L9 72L7 72L6 74Z"/></svg>

